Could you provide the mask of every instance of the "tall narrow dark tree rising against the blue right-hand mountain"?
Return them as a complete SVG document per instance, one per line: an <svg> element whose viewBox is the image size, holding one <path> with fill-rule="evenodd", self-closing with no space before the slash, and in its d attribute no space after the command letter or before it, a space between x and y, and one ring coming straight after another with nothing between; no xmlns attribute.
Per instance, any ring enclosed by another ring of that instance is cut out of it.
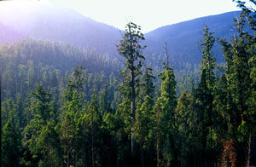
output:
<svg viewBox="0 0 256 167"><path fill-rule="evenodd" d="M213 141L212 133L214 132L213 127L213 101L214 101L214 91L216 87L215 73L213 72L216 66L216 60L213 58L212 47L215 42L212 36L213 32L209 32L208 26L203 30L204 42L201 43L202 49L202 60L201 60L201 81L197 89L197 100L199 101L200 110L200 121L202 130L202 147L206 148L204 151L204 165L212 165L215 159L211 156ZM215 146L215 145L214 145ZM208 153L208 154L207 154ZM203 164L203 163L202 163Z"/></svg>

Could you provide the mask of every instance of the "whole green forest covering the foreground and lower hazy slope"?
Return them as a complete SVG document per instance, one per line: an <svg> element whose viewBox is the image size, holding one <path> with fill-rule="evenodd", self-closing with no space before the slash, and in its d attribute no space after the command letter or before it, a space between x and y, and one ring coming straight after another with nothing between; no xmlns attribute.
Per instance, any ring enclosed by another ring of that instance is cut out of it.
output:
<svg viewBox="0 0 256 167"><path fill-rule="evenodd" d="M46 40L1 44L1 166L256 166L250 2L236 1L242 10L231 39L206 26L201 64L178 69L168 43L161 65L147 60L133 22L116 46L118 59Z"/></svg>

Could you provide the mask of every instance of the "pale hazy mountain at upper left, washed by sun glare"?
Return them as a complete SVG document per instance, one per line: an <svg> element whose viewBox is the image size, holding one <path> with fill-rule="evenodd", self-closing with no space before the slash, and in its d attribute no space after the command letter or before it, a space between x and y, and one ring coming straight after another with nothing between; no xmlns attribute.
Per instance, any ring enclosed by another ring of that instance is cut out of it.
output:
<svg viewBox="0 0 256 167"><path fill-rule="evenodd" d="M9 11L0 9L0 22L1 30L5 32L14 29L24 37L72 43L112 57L117 55L116 44L121 38L119 29L113 26L91 20L72 9L46 4L13 7ZM0 38L0 43L5 41Z"/></svg>

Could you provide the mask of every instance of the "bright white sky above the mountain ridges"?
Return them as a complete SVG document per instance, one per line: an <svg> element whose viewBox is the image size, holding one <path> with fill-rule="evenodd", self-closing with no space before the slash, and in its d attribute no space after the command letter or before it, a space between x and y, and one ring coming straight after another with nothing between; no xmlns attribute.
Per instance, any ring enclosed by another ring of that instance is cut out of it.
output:
<svg viewBox="0 0 256 167"><path fill-rule="evenodd" d="M184 20L239 10L232 0L13 0L12 3L50 3L75 9L110 26L125 29L127 21L150 32ZM1 2L3 3L3 2ZM0 5L1 5L0 3Z"/></svg>

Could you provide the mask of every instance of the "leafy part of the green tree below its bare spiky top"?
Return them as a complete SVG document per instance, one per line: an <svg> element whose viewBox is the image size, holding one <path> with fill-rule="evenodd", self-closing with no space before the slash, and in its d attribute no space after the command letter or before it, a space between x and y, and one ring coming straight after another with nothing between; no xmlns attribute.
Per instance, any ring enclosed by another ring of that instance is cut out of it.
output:
<svg viewBox="0 0 256 167"><path fill-rule="evenodd" d="M166 66L166 70L160 73L161 96L157 99L156 104L160 105L160 116L158 121L160 122L160 133L162 134L162 150L163 156L161 166L169 166L175 159L175 140L174 134L176 132L175 123L175 109L177 107L176 97L176 81L174 72L171 67ZM156 107L159 108L159 107Z"/></svg>

